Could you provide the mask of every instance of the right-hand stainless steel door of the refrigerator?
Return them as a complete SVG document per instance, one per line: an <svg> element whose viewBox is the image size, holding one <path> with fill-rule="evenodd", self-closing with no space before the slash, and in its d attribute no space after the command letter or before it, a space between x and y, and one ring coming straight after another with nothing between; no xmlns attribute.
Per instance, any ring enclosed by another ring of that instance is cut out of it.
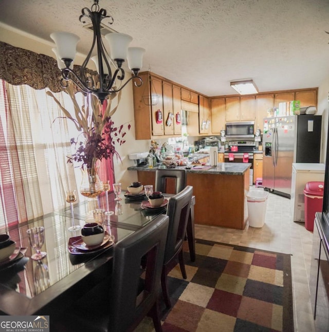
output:
<svg viewBox="0 0 329 332"><path fill-rule="evenodd" d="M277 123L276 173L274 187L276 191L290 195L291 175L293 171L296 130L295 116L286 117Z"/></svg>

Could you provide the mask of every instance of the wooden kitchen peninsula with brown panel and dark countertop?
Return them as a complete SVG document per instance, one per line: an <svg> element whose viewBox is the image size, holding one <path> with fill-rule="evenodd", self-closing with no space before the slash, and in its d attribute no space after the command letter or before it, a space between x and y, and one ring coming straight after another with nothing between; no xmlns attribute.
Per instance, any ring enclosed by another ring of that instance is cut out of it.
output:
<svg viewBox="0 0 329 332"><path fill-rule="evenodd" d="M218 163L186 169L187 185L193 186L196 224L244 229L248 220L246 194L249 191L250 163ZM129 167L137 171L138 181L155 186L157 167ZM185 167L177 167L185 169Z"/></svg>

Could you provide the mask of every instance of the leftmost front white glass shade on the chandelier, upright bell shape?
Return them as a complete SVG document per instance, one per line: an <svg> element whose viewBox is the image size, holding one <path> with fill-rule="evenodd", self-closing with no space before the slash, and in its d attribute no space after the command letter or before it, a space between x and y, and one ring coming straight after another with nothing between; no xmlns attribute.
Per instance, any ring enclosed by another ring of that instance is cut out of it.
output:
<svg viewBox="0 0 329 332"><path fill-rule="evenodd" d="M60 59L72 59L76 57L77 44L80 38L70 32L53 32L50 38L55 42L57 54Z"/></svg>

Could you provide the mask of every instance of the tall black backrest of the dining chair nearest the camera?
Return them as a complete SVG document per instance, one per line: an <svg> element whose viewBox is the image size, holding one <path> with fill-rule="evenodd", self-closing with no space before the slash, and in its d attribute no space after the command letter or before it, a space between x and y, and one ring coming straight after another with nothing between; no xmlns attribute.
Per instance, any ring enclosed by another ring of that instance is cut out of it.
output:
<svg viewBox="0 0 329 332"><path fill-rule="evenodd" d="M109 330L133 330L148 313L155 330L161 330L158 297L168 220L168 216L158 216L115 247ZM145 256L141 289L141 261Z"/></svg>

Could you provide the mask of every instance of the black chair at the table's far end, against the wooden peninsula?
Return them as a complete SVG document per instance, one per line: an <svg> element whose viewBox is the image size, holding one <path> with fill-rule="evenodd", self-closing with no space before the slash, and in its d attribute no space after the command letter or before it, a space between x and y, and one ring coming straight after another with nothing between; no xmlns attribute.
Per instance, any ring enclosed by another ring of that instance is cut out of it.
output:
<svg viewBox="0 0 329 332"><path fill-rule="evenodd" d="M155 191L177 194L186 187L186 171L178 169L157 169L155 171Z"/></svg>

